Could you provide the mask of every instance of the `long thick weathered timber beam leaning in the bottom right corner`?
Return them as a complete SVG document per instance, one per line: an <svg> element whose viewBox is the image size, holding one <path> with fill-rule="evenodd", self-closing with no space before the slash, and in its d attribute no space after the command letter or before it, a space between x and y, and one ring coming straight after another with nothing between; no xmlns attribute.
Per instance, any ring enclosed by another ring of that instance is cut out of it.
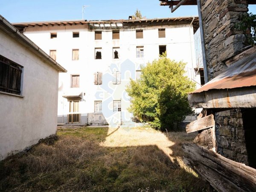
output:
<svg viewBox="0 0 256 192"><path fill-rule="evenodd" d="M183 144L186 165L218 192L256 191L256 169L195 144Z"/></svg>

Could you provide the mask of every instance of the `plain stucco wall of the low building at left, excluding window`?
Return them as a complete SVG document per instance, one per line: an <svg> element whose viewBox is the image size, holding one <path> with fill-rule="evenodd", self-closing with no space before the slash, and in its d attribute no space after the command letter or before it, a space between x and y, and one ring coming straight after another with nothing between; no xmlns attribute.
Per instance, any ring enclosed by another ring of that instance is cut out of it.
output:
<svg viewBox="0 0 256 192"><path fill-rule="evenodd" d="M0 93L0 160L55 134L58 71L0 31L0 54L23 66L23 97Z"/></svg>

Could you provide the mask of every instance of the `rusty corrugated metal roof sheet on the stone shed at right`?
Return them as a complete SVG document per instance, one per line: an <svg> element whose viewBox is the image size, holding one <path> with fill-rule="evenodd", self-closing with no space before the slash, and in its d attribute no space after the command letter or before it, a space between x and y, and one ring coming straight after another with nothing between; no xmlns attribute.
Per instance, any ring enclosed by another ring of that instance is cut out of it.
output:
<svg viewBox="0 0 256 192"><path fill-rule="evenodd" d="M256 86L256 53L237 61L228 67L226 71L192 93L250 86Z"/></svg>

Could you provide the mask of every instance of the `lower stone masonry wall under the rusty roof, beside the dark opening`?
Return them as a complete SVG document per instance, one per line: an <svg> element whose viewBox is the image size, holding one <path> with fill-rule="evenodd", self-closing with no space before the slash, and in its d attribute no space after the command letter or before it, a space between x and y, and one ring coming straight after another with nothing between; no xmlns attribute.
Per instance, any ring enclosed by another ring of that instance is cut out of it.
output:
<svg viewBox="0 0 256 192"><path fill-rule="evenodd" d="M248 165L242 113L233 109L215 113L218 153Z"/></svg>

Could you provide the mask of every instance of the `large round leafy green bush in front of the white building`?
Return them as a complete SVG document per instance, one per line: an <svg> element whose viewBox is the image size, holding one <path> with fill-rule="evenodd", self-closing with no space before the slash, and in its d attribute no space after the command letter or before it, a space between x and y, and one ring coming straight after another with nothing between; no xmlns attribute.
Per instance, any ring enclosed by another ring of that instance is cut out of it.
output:
<svg viewBox="0 0 256 192"><path fill-rule="evenodd" d="M140 79L131 79L126 87L131 96L128 110L137 120L162 131L176 131L185 116L193 113L187 95L195 90L195 83L184 76L185 65L165 53L142 68Z"/></svg>

